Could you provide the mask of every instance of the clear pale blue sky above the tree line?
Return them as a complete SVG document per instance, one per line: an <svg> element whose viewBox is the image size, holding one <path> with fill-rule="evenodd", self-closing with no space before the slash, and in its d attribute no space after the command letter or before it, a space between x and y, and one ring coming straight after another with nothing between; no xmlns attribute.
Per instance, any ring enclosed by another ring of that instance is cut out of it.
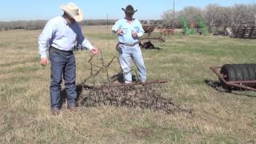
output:
<svg viewBox="0 0 256 144"><path fill-rule="evenodd" d="M163 12L173 8L174 0L6 0L0 5L0 21L50 19L61 15L59 6L74 2L82 9L85 19L118 19L123 18L122 8L127 5L138 10L134 18L161 19ZM204 8L217 3L220 6L234 4L255 4L256 0L175 0L175 10L186 6Z"/></svg>

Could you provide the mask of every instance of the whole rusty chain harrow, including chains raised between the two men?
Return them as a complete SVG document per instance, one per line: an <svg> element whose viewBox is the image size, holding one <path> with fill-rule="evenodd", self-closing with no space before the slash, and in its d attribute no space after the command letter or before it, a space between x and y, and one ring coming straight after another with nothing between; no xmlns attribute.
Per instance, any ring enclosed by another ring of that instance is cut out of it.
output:
<svg viewBox="0 0 256 144"><path fill-rule="evenodd" d="M128 108L150 109L154 111L160 110L166 112L166 114L173 114L174 112L192 113L192 110L183 109L178 104L172 102L171 98L162 97L162 85L167 82L165 80L144 83L134 82L131 84L114 83L116 79L110 79L107 70L114 58L107 65L104 65L103 58L101 58L102 66L97 66L100 69L96 72L93 70L93 57L90 58L91 73L82 82L82 93L79 95L78 100L80 106L125 106ZM97 75L103 71L107 73L107 82L104 82L101 86L95 86L94 81ZM92 86L86 84L90 78L93 79Z"/></svg>

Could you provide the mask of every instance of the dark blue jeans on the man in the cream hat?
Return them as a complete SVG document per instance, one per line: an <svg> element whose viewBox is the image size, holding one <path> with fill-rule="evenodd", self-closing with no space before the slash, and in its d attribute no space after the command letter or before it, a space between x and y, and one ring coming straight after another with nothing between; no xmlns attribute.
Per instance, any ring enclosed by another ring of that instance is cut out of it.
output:
<svg viewBox="0 0 256 144"><path fill-rule="evenodd" d="M50 48L50 107L61 108L62 78L65 82L68 106L76 106L77 92L75 86L76 65L73 52L66 53Z"/></svg>

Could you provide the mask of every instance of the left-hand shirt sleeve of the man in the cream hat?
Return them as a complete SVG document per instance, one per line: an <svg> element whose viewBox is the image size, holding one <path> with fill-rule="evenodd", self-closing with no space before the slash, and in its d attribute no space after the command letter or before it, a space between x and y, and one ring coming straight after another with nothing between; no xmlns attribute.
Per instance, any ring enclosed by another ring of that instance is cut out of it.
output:
<svg viewBox="0 0 256 144"><path fill-rule="evenodd" d="M47 58L46 50L50 46L50 39L53 37L55 31L54 24L49 21L42 30L42 33L38 37L38 53L41 58Z"/></svg>

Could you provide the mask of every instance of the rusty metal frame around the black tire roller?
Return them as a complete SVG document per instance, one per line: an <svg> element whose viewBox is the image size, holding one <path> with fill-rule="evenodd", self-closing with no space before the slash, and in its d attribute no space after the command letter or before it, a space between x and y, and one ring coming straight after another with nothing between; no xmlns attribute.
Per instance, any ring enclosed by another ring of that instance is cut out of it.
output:
<svg viewBox="0 0 256 144"><path fill-rule="evenodd" d="M220 81L222 81L226 86L234 86L237 88L242 88L244 90L254 90L256 89L254 87L245 86L244 84L256 84L256 81L226 81L226 75L221 74L219 70L221 69L221 66L210 66L210 69L214 71L214 74L218 76Z"/></svg>

